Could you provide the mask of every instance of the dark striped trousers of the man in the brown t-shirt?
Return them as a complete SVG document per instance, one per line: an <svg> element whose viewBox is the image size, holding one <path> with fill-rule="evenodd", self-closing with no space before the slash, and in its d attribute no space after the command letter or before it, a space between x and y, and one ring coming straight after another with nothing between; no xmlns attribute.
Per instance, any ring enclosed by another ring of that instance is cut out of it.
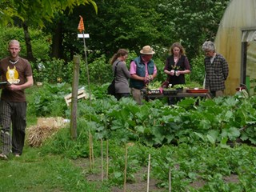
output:
<svg viewBox="0 0 256 192"><path fill-rule="evenodd" d="M12 127L12 132L10 131ZM1 150L22 154L25 142L26 102L0 101Z"/></svg>

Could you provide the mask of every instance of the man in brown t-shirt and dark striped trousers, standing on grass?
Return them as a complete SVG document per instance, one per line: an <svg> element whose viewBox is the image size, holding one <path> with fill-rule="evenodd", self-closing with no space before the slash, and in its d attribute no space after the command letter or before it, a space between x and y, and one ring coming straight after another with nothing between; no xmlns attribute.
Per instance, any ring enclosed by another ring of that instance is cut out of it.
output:
<svg viewBox="0 0 256 192"><path fill-rule="evenodd" d="M17 40L9 42L10 56L0 61L2 94L0 101L0 158L7 159L12 152L22 154L26 129L26 95L24 90L33 86L30 63L18 56L21 47ZM12 134L10 133L12 126Z"/></svg>

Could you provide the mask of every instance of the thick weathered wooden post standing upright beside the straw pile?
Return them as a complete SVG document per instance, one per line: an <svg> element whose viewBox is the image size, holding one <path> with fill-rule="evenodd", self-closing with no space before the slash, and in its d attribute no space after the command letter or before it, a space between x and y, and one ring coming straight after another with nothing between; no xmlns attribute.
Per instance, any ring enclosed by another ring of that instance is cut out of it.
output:
<svg viewBox="0 0 256 192"><path fill-rule="evenodd" d="M70 134L72 139L78 137L77 134L77 108L78 108L78 79L79 79L79 56L74 55L73 82L72 82L72 98L71 98L71 118L70 118Z"/></svg>

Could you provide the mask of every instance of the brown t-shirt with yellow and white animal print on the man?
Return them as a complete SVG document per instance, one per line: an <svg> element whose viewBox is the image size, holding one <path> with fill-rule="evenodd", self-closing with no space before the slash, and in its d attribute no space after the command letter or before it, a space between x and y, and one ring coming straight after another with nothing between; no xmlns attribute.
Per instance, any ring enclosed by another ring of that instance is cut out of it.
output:
<svg viewBox="0 0 256 192"><path fill-rule="evenodd" d="M32 76L30 63L25 58L18 58L16 64L10 63L10 58L3 58L0 61L0 75L2 82L22 85L26 82L26 77ZM1 99L8 102L26 102L24 90L8 90L2 88Z"/></svg>

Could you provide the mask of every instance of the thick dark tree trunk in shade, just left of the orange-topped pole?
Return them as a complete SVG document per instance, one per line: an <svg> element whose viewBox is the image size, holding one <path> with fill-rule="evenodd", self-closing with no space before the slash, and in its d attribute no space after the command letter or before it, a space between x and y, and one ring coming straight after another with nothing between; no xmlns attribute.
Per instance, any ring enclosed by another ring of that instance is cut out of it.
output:
<svg viewBox="0 0 256 192"><path fill-rule="evenodd" d="M52 50L51 56L52 58L62 58L62 22L58 22L53 35L52 42Z"/></svg>

